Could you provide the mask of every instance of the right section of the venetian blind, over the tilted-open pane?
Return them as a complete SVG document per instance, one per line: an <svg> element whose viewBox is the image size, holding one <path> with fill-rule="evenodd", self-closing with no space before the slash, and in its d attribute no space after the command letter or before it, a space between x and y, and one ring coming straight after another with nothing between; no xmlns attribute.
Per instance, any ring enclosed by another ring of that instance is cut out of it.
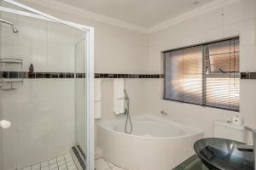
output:
<svg viewBox="0 0 256 170"><path fill-rule="evenodd" d="M207 45L206 105L239 110L239 41Z"/></svg>

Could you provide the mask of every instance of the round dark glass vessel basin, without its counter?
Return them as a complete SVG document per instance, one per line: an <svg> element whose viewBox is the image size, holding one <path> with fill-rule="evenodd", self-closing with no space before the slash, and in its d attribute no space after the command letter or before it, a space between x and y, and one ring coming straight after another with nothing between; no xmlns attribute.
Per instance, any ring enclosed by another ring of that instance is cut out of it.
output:
<svg viewBox="0 0 256 170"><path fill-rule="evenodd" d="M224 170L253 170L253 152L241 151L237 145L243 144L230 139L200 139L194 149L207 166Z"/></svg>

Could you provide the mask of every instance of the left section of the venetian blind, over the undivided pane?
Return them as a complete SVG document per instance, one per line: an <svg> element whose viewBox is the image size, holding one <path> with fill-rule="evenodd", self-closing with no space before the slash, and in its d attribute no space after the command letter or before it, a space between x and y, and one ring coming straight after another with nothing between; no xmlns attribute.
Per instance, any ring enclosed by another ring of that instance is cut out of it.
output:
<svg viewBox="0 0 256 170"><path fill-rule="evenodd" d="M202 104L202 47L166 53L165 98Z"/></svg>

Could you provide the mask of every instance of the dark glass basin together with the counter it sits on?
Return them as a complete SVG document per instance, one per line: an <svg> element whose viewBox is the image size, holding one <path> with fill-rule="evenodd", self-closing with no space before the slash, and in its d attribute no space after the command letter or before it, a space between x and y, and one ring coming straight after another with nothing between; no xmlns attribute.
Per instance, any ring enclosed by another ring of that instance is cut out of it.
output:
<svg viewBox="0 0 256 170"><path fill-rule="evenodd" d="M253 152L237 150L239 144L229 139L201 139L195 143L198 155L173 170L253 170Z"/></svg>

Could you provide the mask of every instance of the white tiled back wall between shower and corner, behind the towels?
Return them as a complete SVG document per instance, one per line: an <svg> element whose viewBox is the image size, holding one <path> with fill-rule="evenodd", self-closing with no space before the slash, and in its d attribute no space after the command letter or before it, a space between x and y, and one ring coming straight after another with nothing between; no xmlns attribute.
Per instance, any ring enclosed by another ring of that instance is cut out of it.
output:
<svg viewBox="0 0 256 170"><path fill-rule="evenodd" d="M20 1L22 2L22 1ZM70 20L85 26L93 26L95 28L95 72L96 73L147 73L147 57L148 57L148 35L137 31L130 31L118 26L110 26L97 22L86 16L80 17L74 14L67 14L50 8L39 7L32 3L23 2L33 8L37 8L45 13L52 14L62 20ZM67 11L68 12L68 11ZM113 100L111 81L103 81L102 89L104 96L108 102ZM143 90L138 87L144 87L143 80L127 80L126 88L131 101L139 105L131 105L131 111L134 114L142 113L145 103L142 102L144 95ZM103 98L104 98L103 96ZM137 109L140 108L140 109ZM142 109L143 108L143 109ZM113 118L113 108L111 103L102 106L102 114L104 118ZM132 113L131 113L132 114Z"/></svg>

